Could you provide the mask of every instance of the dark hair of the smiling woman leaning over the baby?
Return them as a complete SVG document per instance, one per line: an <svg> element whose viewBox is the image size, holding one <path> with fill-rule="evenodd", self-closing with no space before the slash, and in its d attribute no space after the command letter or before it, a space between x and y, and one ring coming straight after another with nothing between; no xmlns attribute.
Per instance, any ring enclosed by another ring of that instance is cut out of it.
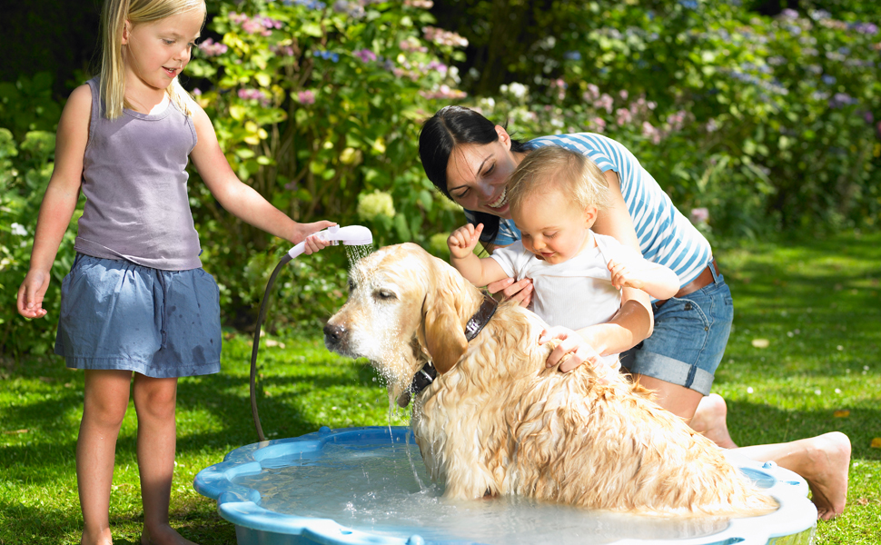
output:
<svg viewBox="0 0 881 545"><path fill-rule="evenodd" d="M492 144L499 140L496 124L474 110L462 106L445 106L422 124L419 134L419 157L422 169L450 201L455 201L447 189L447 164L450 154L460 144ZM529 151L520 140L511 139L511 151ZM499 216L474 211L478 223L483 223L480 242L484 247L496 240L499 233ZM489 248L488 248L489 250Z"/></svg>

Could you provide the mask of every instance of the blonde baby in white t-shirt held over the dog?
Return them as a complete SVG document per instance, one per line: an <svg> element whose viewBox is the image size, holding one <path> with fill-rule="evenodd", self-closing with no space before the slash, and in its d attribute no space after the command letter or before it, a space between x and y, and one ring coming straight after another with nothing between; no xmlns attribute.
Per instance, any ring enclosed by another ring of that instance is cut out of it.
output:
<svg viewBox="0 0 881 545"><path fill-rule="evenodd" d="M590 229L599 211L609 206L608 189L588 157L559 146L534 150L508 183L510 213L521 240L481 259L473 249L483 225L469 223L447 239L450 263L476 286L532 279L532 310L550 325L575 331L608 322L620 308L621 288L669 299L679 289L676 273ZM619 365L618 354L602 361Z"/></svg>

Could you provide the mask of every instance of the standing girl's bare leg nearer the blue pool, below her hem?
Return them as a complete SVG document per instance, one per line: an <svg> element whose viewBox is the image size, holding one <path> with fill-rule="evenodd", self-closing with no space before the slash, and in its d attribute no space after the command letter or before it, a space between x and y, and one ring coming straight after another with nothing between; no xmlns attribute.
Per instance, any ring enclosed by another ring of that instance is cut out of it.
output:
<svg viewBox="0 0 881 545"><path fill-rule="evenodd" d="M138 471L144 504L142 545L194 545L168 523L177 444L174 406L177 379L134 375L134 408L138 413Z"/></svg>

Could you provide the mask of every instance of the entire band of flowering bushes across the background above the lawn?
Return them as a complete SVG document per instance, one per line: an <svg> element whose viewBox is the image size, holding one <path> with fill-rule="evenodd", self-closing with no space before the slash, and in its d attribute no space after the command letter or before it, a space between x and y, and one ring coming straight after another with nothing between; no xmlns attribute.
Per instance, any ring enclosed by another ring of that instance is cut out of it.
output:
<svg viewBox="0 0 881 545"><path fill-rule="evenodd" d="M456 28L473 33L477 46L468 49L438 27L430 0L208 4L207 38L184 84L212 117L235 172L297 221L361 223L377 244L413 241L442 255L461 215L422 173L417 135L422 119L464 102L507 119L520 138L587 130L619 140L714 243L877 227L874 4L803 3L768 17L722 0L542 0L509 11L450 0L441 21L465 18ZM450 18L456 9L460 18ZM488 21L498 27L487 32ZM486 62L475 62L480 55ZM51 172L61 112L51 80L0 84L4 352L51 345L51 322L33 327L11 304ZM466 97L462 81L503 84ZM225 213L192 180L224 322L248 328L288 243ZM47 305L57 304L73 236L58 254ZM271 325L313 330L341 302L345 271L339 250L296 260L279 278Z"/></svg>

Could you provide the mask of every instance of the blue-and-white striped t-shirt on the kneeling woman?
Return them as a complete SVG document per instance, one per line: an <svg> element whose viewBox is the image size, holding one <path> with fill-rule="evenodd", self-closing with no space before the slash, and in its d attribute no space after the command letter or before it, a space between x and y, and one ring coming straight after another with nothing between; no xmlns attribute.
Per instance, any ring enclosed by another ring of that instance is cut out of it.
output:
<svg viewBox="0 0 881 545"><path fill-rule="evenodd" d="M643 257L676 272L680 286L697 278L712 260L713 251L704 235L677 210L668 194L623 145L593 133L541 136L527 143L530 149L546 145L559 145L585 154L603 172L618 173L621 193ZM475 223L474 214L469 210L465 211L465 217ZM507 246L518 240L520 230L514 222L500 218L495 244Z"/></svg>

